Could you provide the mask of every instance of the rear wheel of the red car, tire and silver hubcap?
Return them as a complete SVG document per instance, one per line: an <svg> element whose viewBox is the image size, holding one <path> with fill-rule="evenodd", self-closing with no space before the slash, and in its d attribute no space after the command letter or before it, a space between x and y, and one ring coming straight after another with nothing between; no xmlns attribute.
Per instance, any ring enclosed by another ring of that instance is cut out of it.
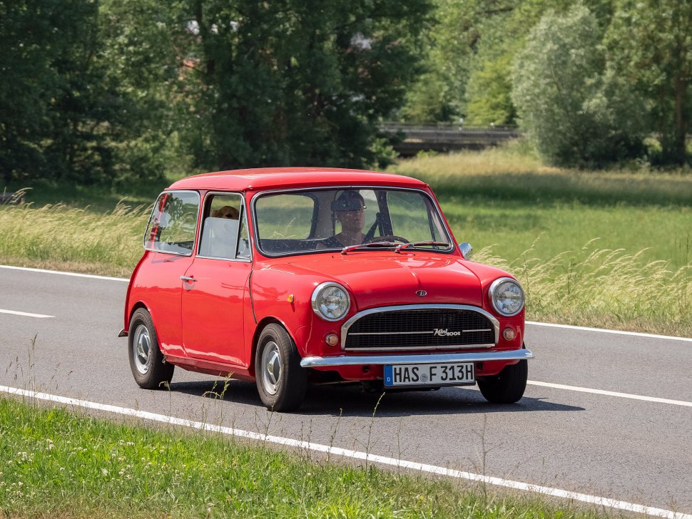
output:
<svg viewBox="0 0 692 519"><path fill-rule="evenodd" d="M164 359L151 315L143 308L137 309L130 319L128 357L132 375L141 388L164 388L173 379L175 366Z"/></svg>

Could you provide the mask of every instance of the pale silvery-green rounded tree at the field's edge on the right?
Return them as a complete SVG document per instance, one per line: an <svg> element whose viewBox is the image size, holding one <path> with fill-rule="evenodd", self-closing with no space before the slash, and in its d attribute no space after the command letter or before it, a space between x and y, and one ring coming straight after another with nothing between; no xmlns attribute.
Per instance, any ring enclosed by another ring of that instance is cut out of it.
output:
<svg viewBox="0 0 692 519"><path fill-rule="evenodd" d="M601 39L595 16L577 5L544 16L515 60L512 99L550 163L603 166L641 153L643 107L604 72Z"/></svg>

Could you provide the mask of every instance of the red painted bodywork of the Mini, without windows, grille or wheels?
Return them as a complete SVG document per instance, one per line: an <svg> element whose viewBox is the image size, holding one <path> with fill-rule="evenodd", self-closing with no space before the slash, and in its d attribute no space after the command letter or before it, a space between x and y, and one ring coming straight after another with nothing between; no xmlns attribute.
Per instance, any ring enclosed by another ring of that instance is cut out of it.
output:
<svg viewBox="0 0 692 519"><path fill-rule="evenodd" d="M419 180L327 168L208 173L179 180L167 191L196 190L202 200L208 191L245 192L245 207L250 211L253 196L258 192L333 186L405 187L423 190L435 200L429 187ZM249 217L253 217L251 211ZM449 230L446 220L444 225ZM199 240L200 222L197 227ZM264 323L280 323L295 341L301 357L340 356L344 354L340 343L327 346L327 334L340 337L347 319L377 307L414 304L479 307L494 315L500 324L499 341L492 351L522 347L524 310L514 317L502 317L492 308L488 294L495 279L511 276L494 267L464 260L456 243L452 252L355 250L342 255L315 251L269 258L256 247L252 222L248 231L253 248L251 262L197 257L198 240L193 255L188 257L145 252L128 287L125 329L133 309L143 305L151 313L161 350L168 361L192 371L222 376L233 373L241 379L254 377L255 343ZM183 282L180 279L183 275L194 277L195 282ZM350 309L337 322L317 317L312 310L312 292L322 282L340 283L349 293ZM416 294L420 290L426 292L424 297ZM507 327L516 334L512 341L502 338L502 331ZM513 362L484 362L476 366L477 375L497 374ZM367 372L363 366L338 366L330 370L345 380L382 378L382 366L371 366Z"/></svg>

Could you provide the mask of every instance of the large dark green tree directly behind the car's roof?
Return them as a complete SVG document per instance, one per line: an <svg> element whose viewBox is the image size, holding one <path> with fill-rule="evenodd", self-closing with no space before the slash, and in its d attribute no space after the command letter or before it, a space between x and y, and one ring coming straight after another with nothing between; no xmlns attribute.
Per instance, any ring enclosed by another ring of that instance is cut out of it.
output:
<svg viewBox="0 0 692 519"><path fill-rule="evenodd" d="M189 0L200 168L362 166L416 73L426 0Z"/></svg>

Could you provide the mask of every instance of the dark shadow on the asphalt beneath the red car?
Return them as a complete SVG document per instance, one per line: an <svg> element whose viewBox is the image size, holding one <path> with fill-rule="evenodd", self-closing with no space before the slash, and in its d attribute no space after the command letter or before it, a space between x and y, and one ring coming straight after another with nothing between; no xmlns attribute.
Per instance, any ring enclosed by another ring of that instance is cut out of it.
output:
<svg viewBox="0 0 692 519"><path fill-rule="evenodd" d="M171 391L223 399L236 404L263 408L253 382L224 381L173 382ZM447 387L439 391L387 391L367 393L360 386L311 386L297 411L307 416L411 416L459 413L526 413L534 411L584 411L543 398L524 396L517 404L491 404L473 388Z"/></svg>

